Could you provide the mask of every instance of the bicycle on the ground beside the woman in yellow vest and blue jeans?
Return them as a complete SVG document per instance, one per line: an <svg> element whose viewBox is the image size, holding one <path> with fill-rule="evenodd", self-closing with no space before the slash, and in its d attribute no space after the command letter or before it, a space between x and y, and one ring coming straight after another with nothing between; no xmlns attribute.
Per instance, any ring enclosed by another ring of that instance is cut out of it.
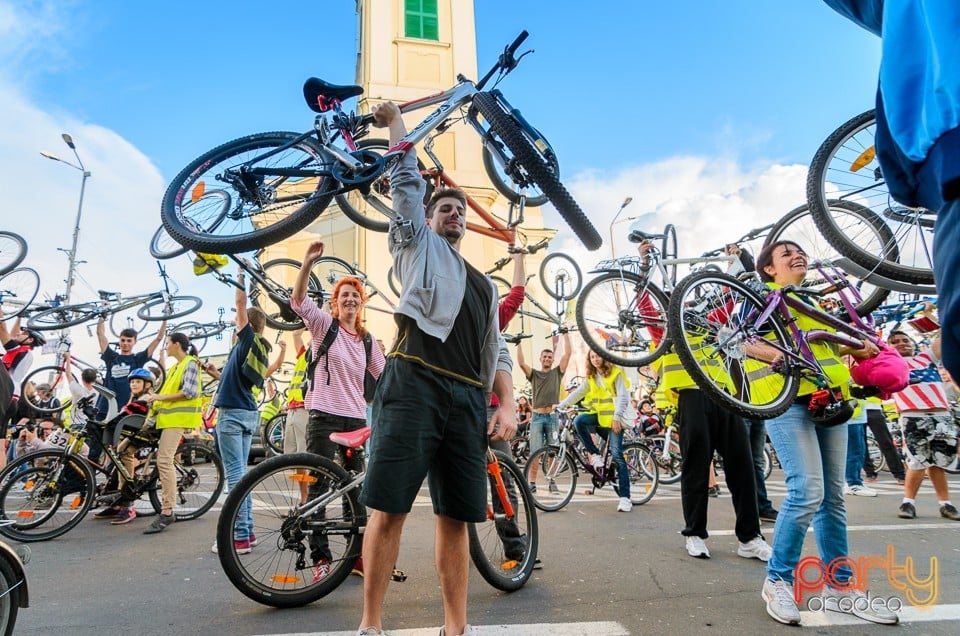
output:
<svg viewBox="0 0 960 636"><path fill-rule="evenodd" d="M623 456L630 473L630 501L635 506L643 505L653 499L660 485L657 461L650 449L640 442L624 443ZM535 486L531 488L534 504L540 510L553 512L570 503L577 489L578 464L590 477L592 487L589 494L610 484L619 495L617 466L610 454L609 444L603 444L602 457L603 465L600 468L595 468L587 461L573 430L573 416L561 411L558 443L538 448L523 467L524 477ZM535 477L532 476L534 467L537 469Z"/></svg>

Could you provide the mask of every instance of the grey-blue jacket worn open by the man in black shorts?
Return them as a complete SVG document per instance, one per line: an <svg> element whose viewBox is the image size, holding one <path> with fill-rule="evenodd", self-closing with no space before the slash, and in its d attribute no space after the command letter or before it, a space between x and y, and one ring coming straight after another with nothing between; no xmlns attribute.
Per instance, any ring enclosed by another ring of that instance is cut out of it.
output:
<svg viewBox="0 0 960 636"><path fill-rule="evenodd" d="M423 208L426 184L411 149L390 174L390 196L397 219L390 224L393 271L401 285L397 313L417 321L427 335L445 341L460 313L467 286L467 267L447 239L427 225ZM493 281L481 356L480 380L489 393L498 370L512 373L513 359L500 336L497 290Z"/></svg>

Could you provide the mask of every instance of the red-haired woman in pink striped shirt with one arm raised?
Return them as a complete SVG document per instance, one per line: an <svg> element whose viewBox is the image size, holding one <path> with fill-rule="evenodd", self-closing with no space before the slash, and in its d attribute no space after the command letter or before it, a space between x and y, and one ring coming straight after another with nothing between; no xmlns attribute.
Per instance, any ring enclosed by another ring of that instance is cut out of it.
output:
<svg viewBox="0 0 960 636"><path fill-rule="evenodd" d="M353 277L341 278L333 286L330 312L317 306L307 296L307 282L314 261L323 256L323 242L307 246L303 265L290 294L290 307L303 318L310 330L310 359L304 394L310 412L307 421L307 452L336 459L338 453L347 470L359 471L356 453L347 455L343 447L330 441L331 433L355 431L367 425L367 402L363 397L363 378L369 371L374 378L383 372L383 352L363 326L363 305L367 301L363 283ZM317 358L327 331L336 321L337 335L326 353ZM365 342L368 340L368 342ZM372 343L372 346L370 346ZM369 360L367 352L369 351ZM310 373L312 368L312 376ZM310 496L317 496L311 493ZM313 580L322 580L330 573L330 550L326 537L310 538L310 558L313 561Z"/></svg>

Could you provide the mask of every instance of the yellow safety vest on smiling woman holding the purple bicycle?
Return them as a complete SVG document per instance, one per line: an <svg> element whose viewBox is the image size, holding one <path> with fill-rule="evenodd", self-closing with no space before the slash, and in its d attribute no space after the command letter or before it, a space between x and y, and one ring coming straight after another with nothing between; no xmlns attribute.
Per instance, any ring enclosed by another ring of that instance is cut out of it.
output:
<svg viewBox="0 0 960 636"><path fill-rule="evenodd" d="M767 286L771 289L780 289L782 287L782 285L776 283L767 283ZM829 325L825 325L799 312L791 312L791 316L795 320L797 327L802 331L819 329L822 331L836 332L836 330ZM773 337L771 334L768 336L768 339L772 340ZM830 387L839 387L843 391L844 397L849 397L850 369L840 358L837 352L837 345L829 342L808 342L807 344L813 353L813 357L816 358L826 375L827 385ZM746 360L744 369L747 371L750 395L753 396L752 402L763 404L765 395L769 396L770 400L772 400L774 396L780 393L780 389L783 387L784 377L774 372L769 364L756 360ZM810 380L801 378L800 389L797 391L797 395L810 395L819 388L820 387Z"/></svg>

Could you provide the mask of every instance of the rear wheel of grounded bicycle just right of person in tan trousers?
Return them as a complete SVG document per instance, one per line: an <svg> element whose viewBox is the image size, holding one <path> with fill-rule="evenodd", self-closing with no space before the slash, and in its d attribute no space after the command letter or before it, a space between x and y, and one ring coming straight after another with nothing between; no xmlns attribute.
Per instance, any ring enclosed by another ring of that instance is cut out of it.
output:
<svg viewBox="0 0 960 636"><path fill-rule="evenodd" d="M177 521L202 517L223 492L223 460L206 444L186 442L177 449L173 468L177 474L177 494L173 514ZM163 485L149 490L150 503L159 514L163 510Z"/></svg>

